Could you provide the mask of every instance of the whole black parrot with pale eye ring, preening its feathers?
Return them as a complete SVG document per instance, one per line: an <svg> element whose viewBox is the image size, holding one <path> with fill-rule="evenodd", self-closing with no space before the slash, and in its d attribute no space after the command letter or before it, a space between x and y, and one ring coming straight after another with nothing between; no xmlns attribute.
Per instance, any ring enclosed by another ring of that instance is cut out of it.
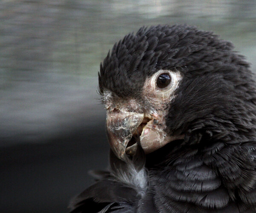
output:
<svg viewBox="0 0 256 213"><path fill-rule="evenodd" d="M142 27L100 66L110 171L72 213L256 212L256 87L233 45L187 25Z"/></svg>

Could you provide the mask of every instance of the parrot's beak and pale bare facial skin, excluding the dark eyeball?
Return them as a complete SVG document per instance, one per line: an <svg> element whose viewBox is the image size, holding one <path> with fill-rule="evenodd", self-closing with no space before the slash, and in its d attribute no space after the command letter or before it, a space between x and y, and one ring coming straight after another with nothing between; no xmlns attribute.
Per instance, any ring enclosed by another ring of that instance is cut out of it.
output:
<svg viewBox="0 0 256 213"><path fill-rule="evenodd" d="M167 73L171 82L165 88L157 86L157 78ZM165 132L167 103L175 98L182 76L180 72L159 70L147 78L143 86L143 101L150 109L141 106L138 101L113 98L113 94L104 92L104 104L107 109L106 130L111 149L120 159L125 153L133 155L137 149L134 137L140 137L140 144L145 153L151 153L171 141L183 139L184 135L168 135Z"/></svg>

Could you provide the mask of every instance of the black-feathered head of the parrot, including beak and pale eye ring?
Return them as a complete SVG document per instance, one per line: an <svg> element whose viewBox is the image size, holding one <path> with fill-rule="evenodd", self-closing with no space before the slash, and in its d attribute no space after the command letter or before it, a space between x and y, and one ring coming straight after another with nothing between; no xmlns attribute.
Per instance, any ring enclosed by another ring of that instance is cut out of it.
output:
<svg viewBox="0 0 256 213"><path fill-rule="evenodd" d="M187 25L142 27L100 66L111 149L122 159L180 145L238 143L256 132L252 74L233 45Z"/></svg>

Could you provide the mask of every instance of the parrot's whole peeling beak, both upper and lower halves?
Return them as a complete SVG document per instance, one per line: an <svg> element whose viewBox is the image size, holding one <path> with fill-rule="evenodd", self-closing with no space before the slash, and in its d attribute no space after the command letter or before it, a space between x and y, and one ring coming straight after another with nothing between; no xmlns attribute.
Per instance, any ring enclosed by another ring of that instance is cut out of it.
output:
<svg viewBox="0 0 256 213"><path fill-rule="evenodd" d="M137 150L136 137L144 152L151 153L170 141L183 139L184 135L169 136L162 124L163 116L145 113L107 110L106 130L108 141L115 155L123 159L125 154L133 155Z"/></svg>

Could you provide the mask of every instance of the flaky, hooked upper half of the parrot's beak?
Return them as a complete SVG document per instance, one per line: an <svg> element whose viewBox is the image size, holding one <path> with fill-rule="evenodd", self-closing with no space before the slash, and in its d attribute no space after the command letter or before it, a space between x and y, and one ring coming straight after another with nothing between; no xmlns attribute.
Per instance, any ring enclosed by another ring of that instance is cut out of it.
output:
<svg viewBox="0 0 256 213"><path fill-rule="evenodd" d="M119 159L123 159L128 142L140 126L144 113L107 110L106 130L111 149Z"/></svg>

